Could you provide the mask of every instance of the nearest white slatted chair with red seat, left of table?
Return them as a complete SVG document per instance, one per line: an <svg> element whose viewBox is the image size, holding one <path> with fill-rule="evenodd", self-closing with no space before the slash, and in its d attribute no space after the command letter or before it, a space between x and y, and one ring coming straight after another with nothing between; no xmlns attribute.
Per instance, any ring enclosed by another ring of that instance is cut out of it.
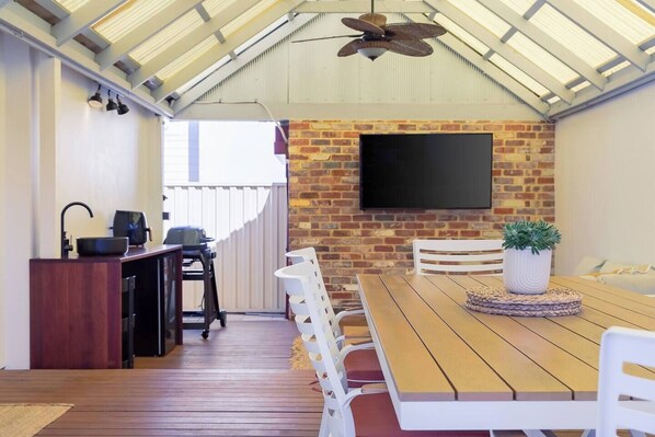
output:
<svg viewBox="0 0 655 437"><path fill-rule="evenodd" d="M310 262L278 269L296 313L296 324L317 371L324 399L319 436L325 437L487 437L486 432L406 432L400 429L384 383L348 387L333 330L317 302L318 279ZM351 345L345 346L348 348Z"/></svg>

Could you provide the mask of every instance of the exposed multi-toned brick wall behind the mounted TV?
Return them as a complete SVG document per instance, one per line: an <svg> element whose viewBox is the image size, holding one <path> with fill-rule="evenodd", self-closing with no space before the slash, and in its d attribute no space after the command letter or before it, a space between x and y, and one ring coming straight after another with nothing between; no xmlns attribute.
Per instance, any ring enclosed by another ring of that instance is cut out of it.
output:
<svg viewBox="0 0 655 437"><path fill-rule="evenodd" d="M335 306L356 299L358 273L409 273L416 238L495 239L505 222L554 221L554 124L292 120L290 249L317 248ZM359 135L493 133L491 209L359 209Z"/></svg>

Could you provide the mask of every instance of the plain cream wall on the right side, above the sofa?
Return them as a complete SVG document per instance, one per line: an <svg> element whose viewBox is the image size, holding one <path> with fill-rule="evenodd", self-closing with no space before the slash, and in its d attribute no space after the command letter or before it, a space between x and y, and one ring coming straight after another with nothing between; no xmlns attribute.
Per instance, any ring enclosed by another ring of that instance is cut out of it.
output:
<svg viewBox="0 0 655 437"><path fill-rule="evenodd" d="M655 83L560 120L558 274L584 255L655 263Z"/></svg>

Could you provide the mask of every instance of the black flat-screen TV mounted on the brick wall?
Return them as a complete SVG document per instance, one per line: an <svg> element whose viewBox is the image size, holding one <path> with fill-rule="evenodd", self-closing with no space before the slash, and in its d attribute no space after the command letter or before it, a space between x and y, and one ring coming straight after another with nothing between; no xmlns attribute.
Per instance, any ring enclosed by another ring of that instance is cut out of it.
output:
<svg viewBox="0 0 655 437"><path fill-rule="evenodd" d="M360 209L491 208L492 134L359 137Z"/></svg>

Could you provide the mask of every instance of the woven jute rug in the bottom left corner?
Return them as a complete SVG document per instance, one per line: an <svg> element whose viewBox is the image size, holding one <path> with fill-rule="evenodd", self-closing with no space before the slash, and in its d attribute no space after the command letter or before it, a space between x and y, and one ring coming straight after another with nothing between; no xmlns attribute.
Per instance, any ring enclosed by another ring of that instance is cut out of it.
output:
<svg viewBox="0 0 655 437"><path fill-rule="evenodd" d="M71 407L71 404L0 404L0 436L33 437Z"/></svg>

